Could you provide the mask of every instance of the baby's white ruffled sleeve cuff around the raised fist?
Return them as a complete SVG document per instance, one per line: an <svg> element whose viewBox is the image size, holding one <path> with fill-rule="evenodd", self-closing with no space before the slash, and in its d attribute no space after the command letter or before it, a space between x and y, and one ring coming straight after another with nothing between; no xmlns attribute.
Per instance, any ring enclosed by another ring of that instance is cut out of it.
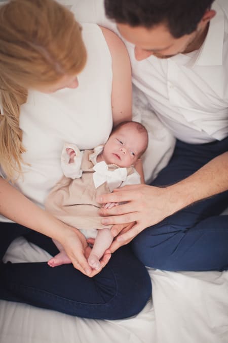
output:
<svg viewBox="0 0 228 343"><path fill-rule="evenodd" d="M67 148L71 148L75 152L73 162L69 163L69 155L66 152ZM82 157L84 151L80 151L74 144L65 143L61 153L61 167L63 174L71 179L77 179L82 176Z"/></svg>

